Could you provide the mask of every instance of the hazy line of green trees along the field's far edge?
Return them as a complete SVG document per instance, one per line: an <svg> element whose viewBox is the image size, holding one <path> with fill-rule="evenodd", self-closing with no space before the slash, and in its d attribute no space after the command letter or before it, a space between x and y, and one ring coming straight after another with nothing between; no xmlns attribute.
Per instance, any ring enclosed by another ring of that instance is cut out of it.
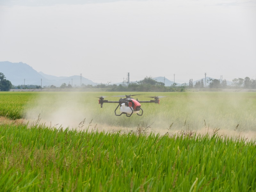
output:
<svg viewBox="0 0 256 192"><path fill-rule="evenodd" d="M243 78L235 78L232 80L232 84L228 85L227 80L220 80L220 79L212 79L209 78L207 80L207 86L205 87L204 79L201 79L193 84L193 79L189 79L189 83L181 84L177 86L177 84L172 84L172 86L165 86L164 83L158 82L151 77L145 77L141 81L136 81L130 83L128 85L116 85L116 84L97 84L97 85L85 85L82 84L79 86L80 88L106 88L107 91L131 91L131 92L183 92L185 89L201 89L201 88L245 88L245 89L256 89L256 80L250 79L249 77ZM40 85L18 85L14 86L9 80L6 80L3 73L0 73L0 91L10 91L10 89L41 89ZM50 88L50 89L65 89L65 88L73 88L71 84L63 83L60 87L55 85L44 86L43 88Z"/></svg>

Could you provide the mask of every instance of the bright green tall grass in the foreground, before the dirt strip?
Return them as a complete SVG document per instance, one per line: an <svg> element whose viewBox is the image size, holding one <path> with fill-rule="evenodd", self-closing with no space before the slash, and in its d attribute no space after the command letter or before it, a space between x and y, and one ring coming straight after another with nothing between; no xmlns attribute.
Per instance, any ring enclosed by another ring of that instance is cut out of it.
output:
<svg viewBox="0 0 256 192"><path fill-rule="evenodd" d="M256 147L252 141L218 135L170 137L92 129L0 126L1 190L256 189Z"/></svg>

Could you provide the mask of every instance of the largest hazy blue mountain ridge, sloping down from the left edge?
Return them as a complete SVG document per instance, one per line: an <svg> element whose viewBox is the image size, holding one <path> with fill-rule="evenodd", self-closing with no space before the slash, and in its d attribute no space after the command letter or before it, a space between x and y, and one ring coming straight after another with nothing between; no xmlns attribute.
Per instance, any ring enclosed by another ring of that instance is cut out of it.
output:
<svg viewBox="0 0 256 192"><path fill-rule="evenodd" d="M37 72L35 69L30 67L26 63L12 63L9 61L0 61L0 72L4 74L7 80L11 81L13 85L55 85L59 87L61 84L72 84L80 85L80 76L52 76L46 75L43 72ZM82 77L82 83L96 85L97 83L92 82L91 80Z"/></svg>

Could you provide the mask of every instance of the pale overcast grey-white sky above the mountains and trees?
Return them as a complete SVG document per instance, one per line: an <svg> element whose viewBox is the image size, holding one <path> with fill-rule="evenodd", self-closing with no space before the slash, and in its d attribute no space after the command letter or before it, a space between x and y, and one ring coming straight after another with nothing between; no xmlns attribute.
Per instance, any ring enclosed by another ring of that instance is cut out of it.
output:
<svg viewBox="0 0 256 192"><path fill-rule="evenodd" d="M256 0L0 0L0 61L97 83L255 79Z"/></svg>

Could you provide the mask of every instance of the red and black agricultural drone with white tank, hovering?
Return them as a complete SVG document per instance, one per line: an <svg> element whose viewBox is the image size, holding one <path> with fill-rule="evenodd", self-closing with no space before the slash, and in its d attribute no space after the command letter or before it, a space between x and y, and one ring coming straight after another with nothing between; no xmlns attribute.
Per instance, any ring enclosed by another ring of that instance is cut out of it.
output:
<svg viewBox="0 0 256 192"><path fill-rule="evenodd" d="M142 94L137 94L137 95L142 95ZM127 117L132 116L132 114L137 114L138 116L143 115L143 110L141 108L140 103L156 103L159 104L160 100L159 98L164 97L164 96L153 96L150 98L154 98L154 100L149 100L149 101L139 101L138 99L133 99L131 96L135 95L119 95L119 96L113 96L113 97L121 97L119 101L108 101L104 100L104 96L100 96L99 99L99 104L100 108L103 107L103 103L118 103L118 106L115 109L115 115L116 116L121 116L122 114L125 114ZM125 98L122 98L125 97ZM120 108L120 114L116 113L116 110ZM141 111L141 113L140 113Z"/></svg>

